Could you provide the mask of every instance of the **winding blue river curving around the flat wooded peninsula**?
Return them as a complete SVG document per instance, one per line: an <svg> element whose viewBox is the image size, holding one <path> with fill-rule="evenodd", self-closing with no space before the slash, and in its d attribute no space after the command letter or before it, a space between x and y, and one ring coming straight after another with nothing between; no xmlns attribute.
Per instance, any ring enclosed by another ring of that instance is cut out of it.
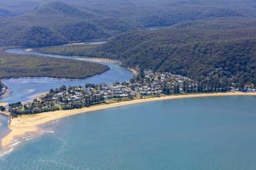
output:
<svg viewBox="0 0 256 170"><path fill-rule="evenodd" d="M48 92L51 88L59 88L60 86L84 86L86 83L94 84L112 84L113 82L125 82L133 77L133 73L121 67L121 62L113 62L108 60L92 60L88 57L70 57L70 56L60 56L52 54L42 54L26 49L7 49L7 53L14 54L24 54L24 55L37 55L44 57L53 58L68 58L68 59L84 59L90 62L97 62L103 65L108 65L110 70L105 73L98 74L86 79L55 79L55 78L11 78L3 79L2 82L6 84L7 87L13 90L13 94L3 97L0 103L15 103L18 101L28 101L31 100L30 96L37 94L42 94Z"/></svg>

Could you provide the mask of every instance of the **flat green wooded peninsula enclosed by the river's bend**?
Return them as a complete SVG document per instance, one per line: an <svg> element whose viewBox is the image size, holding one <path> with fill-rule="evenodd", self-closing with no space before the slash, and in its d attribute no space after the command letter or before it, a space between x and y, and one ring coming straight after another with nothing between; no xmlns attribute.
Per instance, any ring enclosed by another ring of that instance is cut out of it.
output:
<svg viewBox="0 0 256 170"><path fill-rule="evenodd" d="M74 59L9 54L0 50L0 78L88 78L109 70L106 65Z"/></svg>

